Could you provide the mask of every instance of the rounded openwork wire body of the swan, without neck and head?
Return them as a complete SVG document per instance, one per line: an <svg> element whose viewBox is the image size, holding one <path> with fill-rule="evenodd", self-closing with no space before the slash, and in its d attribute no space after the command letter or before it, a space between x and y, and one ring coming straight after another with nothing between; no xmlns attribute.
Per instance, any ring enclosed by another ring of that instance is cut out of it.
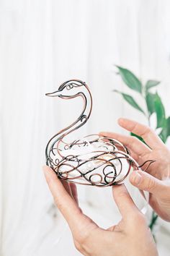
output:
<svg viewBox="0 0 170 256"><path fill-rule="evenodd" d="M51 155L50 166L60 179L97 187L122 184L132 168L141 167L122 143L99 135L89 135L71 144L60 140Z"/></svg>

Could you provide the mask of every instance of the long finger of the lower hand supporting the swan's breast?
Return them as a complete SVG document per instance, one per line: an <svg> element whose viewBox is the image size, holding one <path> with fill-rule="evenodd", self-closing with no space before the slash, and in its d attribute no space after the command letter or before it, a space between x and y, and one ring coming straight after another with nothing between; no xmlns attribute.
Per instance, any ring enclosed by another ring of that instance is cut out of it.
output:
<svg viewBox="0 0 170 256"><path fill-rule="evenodd" d="M55 172L48 166L44 166L43 170L48 187L50 188L50 192L53 195L58 209L63 214L63 217L66 218L72 233L79 234L82 231L82 226L84 229L86 229L87 226L90 226L92 223L91 219L84 216L71 195L69 195L63 187L63 184L58 179Z"/></svg>

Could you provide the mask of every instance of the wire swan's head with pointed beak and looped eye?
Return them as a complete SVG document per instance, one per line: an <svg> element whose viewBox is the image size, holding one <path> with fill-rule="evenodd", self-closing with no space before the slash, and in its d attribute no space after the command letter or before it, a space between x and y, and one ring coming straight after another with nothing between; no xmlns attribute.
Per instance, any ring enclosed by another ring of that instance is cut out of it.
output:
<svg viewBox="0 0 170 256"><path fill-rule="evenodd" d="M60 97L64 99L77 97L83 88L87 89L86 82L81 80L68 80L60 85L57 91L53 93L46 93L50 97Z"/></svg>

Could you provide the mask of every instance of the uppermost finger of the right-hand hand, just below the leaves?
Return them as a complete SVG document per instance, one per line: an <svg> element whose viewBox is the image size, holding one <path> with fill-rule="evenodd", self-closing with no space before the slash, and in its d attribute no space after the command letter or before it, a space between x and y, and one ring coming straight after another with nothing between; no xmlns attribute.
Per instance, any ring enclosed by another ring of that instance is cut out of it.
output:
<svg viewBox="0 0 170 256"><path fill-rule="evenodd" d="M118 124L121 127L127 129L129 132L135 133L145 140L149 147L152 149L160 148L160 146L164 145L161 139L152 131L149 127L143 124L139 124L137 121L133 121L130 119L119 119Z"/></svg>

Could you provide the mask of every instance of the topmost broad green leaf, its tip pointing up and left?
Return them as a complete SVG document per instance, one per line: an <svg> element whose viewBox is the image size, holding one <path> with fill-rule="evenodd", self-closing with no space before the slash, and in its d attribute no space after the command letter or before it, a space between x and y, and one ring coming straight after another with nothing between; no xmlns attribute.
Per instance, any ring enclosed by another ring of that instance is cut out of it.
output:
<svg viewBox="0 0 170 256"><path fill-rule="evenodd" d="M138 93L142 93L142 83L138 80L138 77L135 76L130 70L124 69L122 67L116 66L119 69L120 76L122 80L130 89L137 91Z"/></svg>

